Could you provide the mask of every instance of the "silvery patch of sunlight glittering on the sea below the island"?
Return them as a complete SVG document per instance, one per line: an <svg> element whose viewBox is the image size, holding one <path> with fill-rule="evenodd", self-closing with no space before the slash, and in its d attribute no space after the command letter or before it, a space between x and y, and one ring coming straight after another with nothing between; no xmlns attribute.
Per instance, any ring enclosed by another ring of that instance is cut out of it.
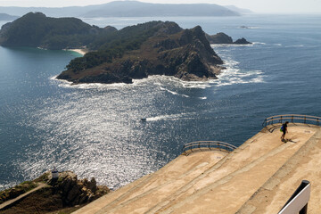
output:
<svg viewBox="0 0 321 214"><path fill-rule="evenodd" d="M16 164L29 175L53 165L59 170L74 170L79 177L99 175L97 182L111 188L151 173L165 164L157 156L168 158L157 149L154 139L137 144L144 138L144 131L138 128L142 126L141 110L149 111L146 103L154 94L158 92L146 97L135 91L123 95L121 90L112 90L100 95L80 90L60 103L48 99L45 108L25 119L43 144L30 145L26 148L28 161Z"/></svg>

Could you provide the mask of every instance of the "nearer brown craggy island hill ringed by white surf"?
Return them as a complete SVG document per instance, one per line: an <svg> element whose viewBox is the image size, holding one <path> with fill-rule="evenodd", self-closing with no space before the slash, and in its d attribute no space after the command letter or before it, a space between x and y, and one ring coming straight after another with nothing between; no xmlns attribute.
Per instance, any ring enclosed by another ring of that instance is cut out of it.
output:
<svg viewBox="0 0 321 214"><path fill-rule="evenodd" d="M222 60L200 26L152 21L111 34L97 52L67 65L58 78L74 83L132 83L133 78L168 75L183 80L217 78Z"/></svg>

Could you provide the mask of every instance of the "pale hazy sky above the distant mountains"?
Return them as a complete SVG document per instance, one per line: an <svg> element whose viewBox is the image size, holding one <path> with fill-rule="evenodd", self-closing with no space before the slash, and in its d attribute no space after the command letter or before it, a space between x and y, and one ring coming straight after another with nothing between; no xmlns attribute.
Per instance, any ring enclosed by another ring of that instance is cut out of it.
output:
<svg viewBox="0 0 321 214"><path fill-rule="evenodd" d="M0 6L62 7L109 3L113 0L0 0ZM140 0L149 3L235 5L253 12L321 13L321 0Z"/></svg>

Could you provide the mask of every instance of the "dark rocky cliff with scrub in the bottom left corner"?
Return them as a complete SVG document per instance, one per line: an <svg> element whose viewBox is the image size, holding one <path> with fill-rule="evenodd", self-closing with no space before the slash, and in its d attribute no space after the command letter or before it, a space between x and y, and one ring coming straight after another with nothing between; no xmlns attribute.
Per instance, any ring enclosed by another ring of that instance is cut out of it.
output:
<svg viewBox="0 0 321 214"><path fill-rule="evenodd" d="M91 180L78 179L76 174L66 171L59 173L57 179L52 179L51 172L46 172L33 181L0 192L0 208L4 202L32 192L38 185L43 187L0 209L0 213L53 213L58 210L70 213L110 192L107 186L96 185L94 177Z"/></svg>

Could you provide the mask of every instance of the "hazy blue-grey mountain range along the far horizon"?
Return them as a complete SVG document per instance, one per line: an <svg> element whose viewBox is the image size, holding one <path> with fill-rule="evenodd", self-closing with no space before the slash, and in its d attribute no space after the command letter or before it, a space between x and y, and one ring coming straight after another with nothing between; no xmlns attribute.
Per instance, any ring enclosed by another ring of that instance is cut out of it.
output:
<svg viewBox="0 0 321 214"><path fill-rule="evenodd" d="M248 10L218 4L151 4L115 1L108 4L70 7L0 7L0 13L22 16L43 12L51 17L157 17L157 16L239 16Z"/></svg>

